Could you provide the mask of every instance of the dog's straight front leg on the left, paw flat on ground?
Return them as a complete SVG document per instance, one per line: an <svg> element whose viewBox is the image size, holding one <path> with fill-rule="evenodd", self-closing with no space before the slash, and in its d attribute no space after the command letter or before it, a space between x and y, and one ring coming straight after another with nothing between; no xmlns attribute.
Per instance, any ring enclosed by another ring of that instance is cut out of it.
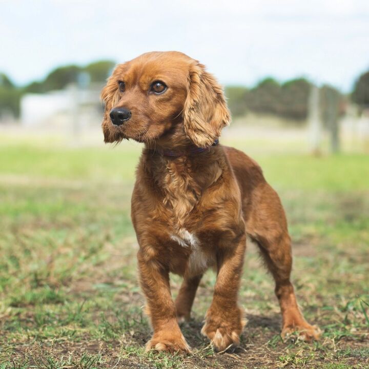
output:
<svg viewBox="0 0 369 369"><path fill-rule="evenodd" d="M154 258L145 255L142 249L137 258L141 286L147 299L147 312L154 330L146 350L190 352L177 322L170 292L169 271L162 268Z"/></svg>

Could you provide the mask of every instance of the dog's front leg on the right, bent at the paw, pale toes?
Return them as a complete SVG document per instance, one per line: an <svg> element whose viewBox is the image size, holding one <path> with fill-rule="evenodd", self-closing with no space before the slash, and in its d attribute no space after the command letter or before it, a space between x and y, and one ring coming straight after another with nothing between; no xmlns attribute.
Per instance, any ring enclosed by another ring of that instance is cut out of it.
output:
<svg viewBox="0 0 369 369"><path fill-rule="evenodd" d="M243 329L243 311L237 304L237 297L245 247L246 240L242 232L218 253L218 275L213 301L201 330L218 351L231 344L238 344Z"/></svg>

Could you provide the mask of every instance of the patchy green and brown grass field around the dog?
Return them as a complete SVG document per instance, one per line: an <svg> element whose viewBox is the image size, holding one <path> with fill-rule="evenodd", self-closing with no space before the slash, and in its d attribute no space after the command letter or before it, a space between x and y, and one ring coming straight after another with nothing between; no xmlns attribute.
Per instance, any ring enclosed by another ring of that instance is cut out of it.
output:
<svg viewBox="0 0 369 369"><path fill-rule="evenodd" d="M0 369L369 367L367 155L274 154L271 144L254 156L288 214L297 296L321 340L281 341L274 286L250 245L240 347L215 354L199 334L208 272L182 326L194 350L180 356L144 352L129 216L139 147L0 142ZM248 152L247 140L236 146ZM179 284L173 276L174 295Z"/></svg>

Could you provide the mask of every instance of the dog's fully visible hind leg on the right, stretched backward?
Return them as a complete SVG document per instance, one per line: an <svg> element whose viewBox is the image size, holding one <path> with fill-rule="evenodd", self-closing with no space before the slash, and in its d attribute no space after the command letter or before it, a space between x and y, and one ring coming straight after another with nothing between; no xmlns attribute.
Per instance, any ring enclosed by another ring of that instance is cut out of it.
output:
<svg viewBox="0 0 369 369"><path fill-rule="evenodd" d="M320 330L303 318L290 280L292 269L291 239L277 193L265 183L254 194L258 207L246 223L249 235L257 241L261 255L276 286L275 293L282 312L282 337L294 331L306 341L318 339Z"/></svg>

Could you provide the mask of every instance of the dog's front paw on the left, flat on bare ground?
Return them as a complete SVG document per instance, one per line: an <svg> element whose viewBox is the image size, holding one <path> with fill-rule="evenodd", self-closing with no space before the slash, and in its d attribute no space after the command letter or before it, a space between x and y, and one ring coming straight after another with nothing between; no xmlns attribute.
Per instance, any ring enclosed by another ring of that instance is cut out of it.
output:
<svg viewBox="0 0 369 369"><path fill-rule="evenodd" d="M146 351L167 351L167 352L181 352L189 353L191 348L186 342L182 334L174 335L171 332L155 333L151 340L146 344Z"/></svg>

